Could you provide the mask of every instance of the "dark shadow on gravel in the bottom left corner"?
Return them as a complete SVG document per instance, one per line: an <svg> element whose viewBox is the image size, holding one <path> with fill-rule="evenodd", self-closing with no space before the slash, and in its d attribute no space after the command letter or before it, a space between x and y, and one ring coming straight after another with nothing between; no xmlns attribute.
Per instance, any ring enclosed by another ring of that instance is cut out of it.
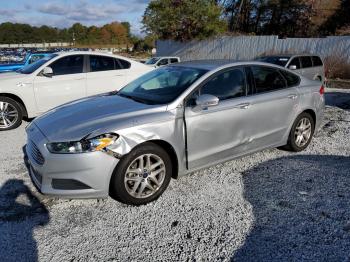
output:
<svg viewBox="0 0 350 262"><path fill-rule="evenodd" d="M0 261L38 261L34 229L49 220L49 211L23 180L7 180L0 188Z"/></svg>

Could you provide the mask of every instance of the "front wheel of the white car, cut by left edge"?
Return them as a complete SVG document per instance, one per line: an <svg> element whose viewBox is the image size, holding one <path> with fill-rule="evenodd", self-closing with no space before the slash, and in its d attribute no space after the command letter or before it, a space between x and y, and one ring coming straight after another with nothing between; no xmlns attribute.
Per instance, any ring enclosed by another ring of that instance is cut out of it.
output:
<svg viewBox="0 0 350 262"><path fill-rule="evenodd" d="M8 97L0 96L0 131L11 130L22 124L21 105Z"/></svg>

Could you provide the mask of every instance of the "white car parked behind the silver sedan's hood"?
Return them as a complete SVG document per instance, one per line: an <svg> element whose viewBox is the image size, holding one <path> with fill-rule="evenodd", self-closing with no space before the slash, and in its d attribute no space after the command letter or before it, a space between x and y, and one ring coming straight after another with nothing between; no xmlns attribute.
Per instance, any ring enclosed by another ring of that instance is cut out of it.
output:
<svg viewBox="0 0 350 262"><path fill-rule="evenodd" d="M18 127L61 104L121 89L152 68L112 54L53 53L0 74L0 131Z"/></svg>

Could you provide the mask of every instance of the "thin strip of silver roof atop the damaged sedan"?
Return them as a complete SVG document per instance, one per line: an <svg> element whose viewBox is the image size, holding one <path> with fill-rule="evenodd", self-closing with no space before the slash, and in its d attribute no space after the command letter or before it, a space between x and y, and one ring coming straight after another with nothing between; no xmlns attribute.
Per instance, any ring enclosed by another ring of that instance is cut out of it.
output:
<svg viewBox="0 0 350 262"><path fill-rule="evenodd" d="M281 66L270 64L270 63L264 63L259 61L239 61L239 60L230 60L230 59L194 60L194 61L175 63L169 66L190 67L190 68L198 68L198 69L212 71L218 68L242 66L242 65L263 65L263 66L285 69Z"/></svg>

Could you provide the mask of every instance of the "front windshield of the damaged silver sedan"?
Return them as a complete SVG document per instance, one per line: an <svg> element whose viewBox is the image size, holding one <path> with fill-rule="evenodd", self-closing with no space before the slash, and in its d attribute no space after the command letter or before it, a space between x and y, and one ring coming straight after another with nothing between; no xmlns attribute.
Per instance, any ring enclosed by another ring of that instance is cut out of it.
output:
<svg viewBox="0 0 350 262"><path fill-rule="evenodd" d="M145 104L167 104L175 100L207 70L167 66L151 71L118 92Z"/></svg>

